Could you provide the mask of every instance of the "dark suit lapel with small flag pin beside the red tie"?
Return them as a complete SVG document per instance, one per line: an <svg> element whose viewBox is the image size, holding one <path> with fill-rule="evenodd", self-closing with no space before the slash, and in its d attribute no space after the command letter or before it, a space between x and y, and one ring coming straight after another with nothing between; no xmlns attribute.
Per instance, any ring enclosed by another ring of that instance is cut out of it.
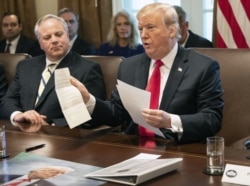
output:
<svg viewBox="0 0 250 186"><path fill-rule="evenodd" d="M166 82L165 89L163 90L163 97L161 100L160 108L168 110L168 107L175 95L177 88L179 87L183 76L188 69L188 58L185 49L178 48L177 55L174 59L173 66L170 70L168 81Z"/></svg>

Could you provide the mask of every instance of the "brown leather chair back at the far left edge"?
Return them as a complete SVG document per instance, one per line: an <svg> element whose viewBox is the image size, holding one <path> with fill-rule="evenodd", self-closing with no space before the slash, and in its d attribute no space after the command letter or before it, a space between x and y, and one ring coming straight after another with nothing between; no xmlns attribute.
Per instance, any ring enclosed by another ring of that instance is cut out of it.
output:
<svg viewBox="0 0 250 186"><path fill-rule="evenodd" d="M6 76L8 84L11 83L12 79L15 76L16 65L20 61L27 59L29 57L31 56L26 53L16 53L16 54L0 53L0 63L4 67L5 76Z"/></svg>

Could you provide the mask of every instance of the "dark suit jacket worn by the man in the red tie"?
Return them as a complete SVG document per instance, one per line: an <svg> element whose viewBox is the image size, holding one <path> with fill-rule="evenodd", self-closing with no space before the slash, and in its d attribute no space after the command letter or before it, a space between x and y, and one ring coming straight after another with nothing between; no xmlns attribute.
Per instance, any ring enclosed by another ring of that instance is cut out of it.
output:
<svg viewBox="0 0 250 186"><path fill-rule="evenodd" d="M145 53L126 58L120 65L118 79L145 89L150 61ZM179 47L163 91L160 109L179 115L184 132L179 141L176 133L161 129L166 138L187 143L204 141L207 136L215 135L221 128L222 95L218 63ZM97 99L92 118L111 126L124 124L125 133L138 134L138 125L131 121L117 91L113 91L112 102Z"/></svg>

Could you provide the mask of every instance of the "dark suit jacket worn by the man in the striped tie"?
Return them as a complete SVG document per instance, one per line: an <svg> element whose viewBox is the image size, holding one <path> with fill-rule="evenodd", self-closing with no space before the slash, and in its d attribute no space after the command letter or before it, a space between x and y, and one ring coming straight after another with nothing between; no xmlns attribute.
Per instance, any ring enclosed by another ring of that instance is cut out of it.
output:
<svg viewBox="0 0 250 186"><path fill-rule="evenodd" d="M1 105L3 118L9 119L14 111L36 110L47 116L48 123L65 125L61 107L55 92L54 74L52 74L38 103L35 105L41 74L45 68L45 55L21 61L14 80L10 84ZM105 99L105 87L101 67L80 55L69 52L57 66L68 67L70 74L81 81L93 95Z"/></svg>

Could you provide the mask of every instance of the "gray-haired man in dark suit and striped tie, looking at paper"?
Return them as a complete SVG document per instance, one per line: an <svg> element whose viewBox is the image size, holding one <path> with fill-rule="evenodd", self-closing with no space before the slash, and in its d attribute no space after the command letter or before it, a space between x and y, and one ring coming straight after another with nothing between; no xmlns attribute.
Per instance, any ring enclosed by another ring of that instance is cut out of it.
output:
<svg viewBox="0 0 250 186"><path fill-rule="evenodd" d="M3 118L33 124L66 125L54 83L54 74L48 80L38 99L38 89L44 69L50 64L56 68L68 67L70 74L88 87L91 94L105 99L101 67L69 50L68 28L65 21L55 15L42 17L35 26L35 34L45 55L21 61L13 82L1 105ZM38 100L38 101L37 101Z"/></svg>

